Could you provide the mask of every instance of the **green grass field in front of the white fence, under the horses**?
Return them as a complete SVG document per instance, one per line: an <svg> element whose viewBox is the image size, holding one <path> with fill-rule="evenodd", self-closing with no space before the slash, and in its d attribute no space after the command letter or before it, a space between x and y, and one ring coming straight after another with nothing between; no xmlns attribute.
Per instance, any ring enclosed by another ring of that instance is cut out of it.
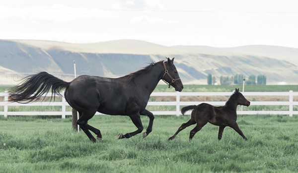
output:
<svg viewBox="0 0 298 173"><path fill-rule="evenodd" d="M167 141L189 116L157 116L153 131L142 139L116 140L136 130L129 117L96 115L89 124L103 141L91 143L71 127L71 118L0 116L0 172L297 172L298 116L243 115L238 124L248 141L227 127L207 124L192 141L190 126ZM142 116L146 129L149 118ZM5 146L3 145L5 143Z"/></svg>

